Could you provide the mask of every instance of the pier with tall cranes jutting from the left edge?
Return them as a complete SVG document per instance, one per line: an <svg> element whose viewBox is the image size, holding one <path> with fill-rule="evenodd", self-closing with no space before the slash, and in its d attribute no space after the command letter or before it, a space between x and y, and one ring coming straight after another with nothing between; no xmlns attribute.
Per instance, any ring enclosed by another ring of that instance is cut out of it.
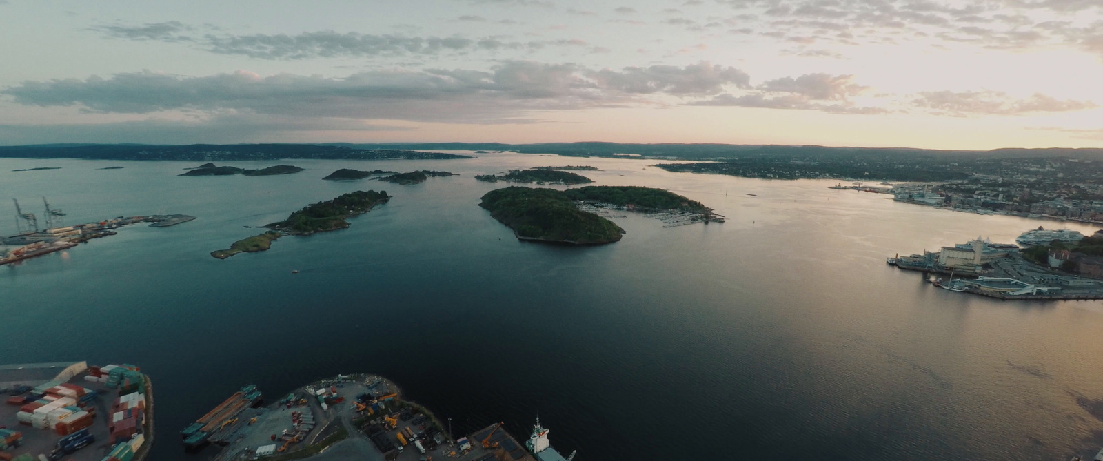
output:
<svg viewBox="0 0 1103 461"><path fill-rule="evenodd" d="M122 226L137 223L152 223L151 227L168 227L180 223L195 219L189 215L152 215L152 216L118 216L111 219L104 219L96 223L77 224L63 226L62 219L66 213L52 208L45 197L42 203L45 205L45 227L39 228L39 217L33 213L24 213L15 203L15 227L18 234L9 237L0 237L0 266L19 262L51 253L73 248L77 244L88 242L93 238L117 235L115 230Z"/></svg>

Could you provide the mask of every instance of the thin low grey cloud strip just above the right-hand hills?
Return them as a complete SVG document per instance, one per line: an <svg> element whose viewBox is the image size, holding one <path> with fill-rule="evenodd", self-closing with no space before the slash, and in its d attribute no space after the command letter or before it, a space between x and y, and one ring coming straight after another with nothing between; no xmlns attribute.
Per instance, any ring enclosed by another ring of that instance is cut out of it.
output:
<svg viewBox="0 0 1103 461"><path fill-rule="evenodd" d="M968 115L1022 115L1031 112L1065 112L1093 109L1090 100L1057 99L1042 94L1017 99L1002 92L924 92L912 100L915 107L931 109L935 114L951 116Z"/></svg>

